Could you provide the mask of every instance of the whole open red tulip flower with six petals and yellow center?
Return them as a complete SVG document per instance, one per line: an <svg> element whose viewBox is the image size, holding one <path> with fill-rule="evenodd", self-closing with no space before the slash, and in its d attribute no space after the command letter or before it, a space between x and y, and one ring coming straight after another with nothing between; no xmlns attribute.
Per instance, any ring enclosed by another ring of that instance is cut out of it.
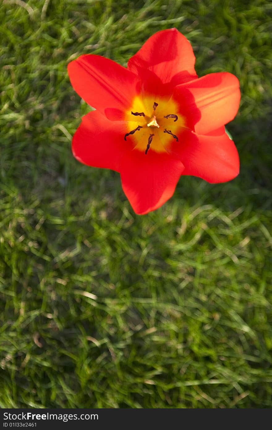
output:
<svg viewBox="0 0 272 430"><path fill-rule="evenodd" d="M180 175L226 182L239 157L224 125L240 101L227 72L198 78L189 41L176 28L151 36L122 67L100 55L68 64L73 88L95 107L73 136L76 160L121 174L137 214L159 208Z"/></svg>

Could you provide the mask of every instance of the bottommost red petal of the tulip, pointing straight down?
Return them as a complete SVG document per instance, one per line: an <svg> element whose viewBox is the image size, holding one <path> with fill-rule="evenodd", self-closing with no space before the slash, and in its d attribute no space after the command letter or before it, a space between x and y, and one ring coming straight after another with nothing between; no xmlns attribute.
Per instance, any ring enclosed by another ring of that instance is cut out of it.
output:
<svg viewBox="0 0 272 430"><path fill-rule="evenodd" d="M144 215L158 209L173 195L184 169L167 153L131 151L122 159L122 187L134 212Z"/></svg>

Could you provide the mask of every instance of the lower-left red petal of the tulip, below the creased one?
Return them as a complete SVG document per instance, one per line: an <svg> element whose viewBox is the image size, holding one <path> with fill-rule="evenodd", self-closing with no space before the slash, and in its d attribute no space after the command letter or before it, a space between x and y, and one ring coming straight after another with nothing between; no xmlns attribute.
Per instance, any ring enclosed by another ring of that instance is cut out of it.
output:
<svg viewBox="0 0 272 430"><path fill-rule="evenodd" d="M73 136L73 155L88 166L119 172L121 158L133 147L124 141L125 132L125 123L107 120L98 111L89 112Z"/></svg>

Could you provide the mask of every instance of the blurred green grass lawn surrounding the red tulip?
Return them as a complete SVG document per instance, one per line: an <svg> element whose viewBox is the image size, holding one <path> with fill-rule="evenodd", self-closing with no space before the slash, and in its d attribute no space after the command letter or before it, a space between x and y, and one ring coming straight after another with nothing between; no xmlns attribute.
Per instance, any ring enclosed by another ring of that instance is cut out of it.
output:
<svg viewBox="0 0 272 430"><path fill-rule="evenodd" d="M0 3L0 407L271 408L272 3ZM232 182L182 177L138 216L119 174L83 166L89 107L67 63L126 65L176 27L199 76L229 71Z"/></svg>

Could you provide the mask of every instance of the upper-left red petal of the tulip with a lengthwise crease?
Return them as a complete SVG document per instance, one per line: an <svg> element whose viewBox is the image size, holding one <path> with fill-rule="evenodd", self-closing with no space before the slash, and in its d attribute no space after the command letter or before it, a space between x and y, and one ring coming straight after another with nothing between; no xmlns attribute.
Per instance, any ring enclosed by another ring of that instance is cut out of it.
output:
<svg viewBox="0 0 272 430"><path fill-rule="evenodd" d="M102 113L115 108L118 119L140 91L136 75L100 55L81 55L68 64L68 74L81 98Z"/></svg>

